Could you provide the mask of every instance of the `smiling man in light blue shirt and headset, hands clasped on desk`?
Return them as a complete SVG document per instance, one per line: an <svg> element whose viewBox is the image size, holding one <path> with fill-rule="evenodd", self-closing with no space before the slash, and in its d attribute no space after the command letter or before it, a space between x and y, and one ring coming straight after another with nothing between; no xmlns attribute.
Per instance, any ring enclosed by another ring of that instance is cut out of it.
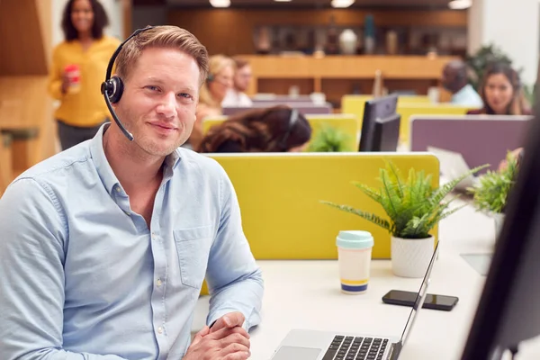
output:
<svg viewBox="0 0 540 360"><path fill-rule="evenodd" d="M136 31L102 85L114 122L8 187L2 360L247 359L263 281L238 200L217 162L179 148L207 72L188 31ZM190 341L204 278L211 328Z"/></svg>

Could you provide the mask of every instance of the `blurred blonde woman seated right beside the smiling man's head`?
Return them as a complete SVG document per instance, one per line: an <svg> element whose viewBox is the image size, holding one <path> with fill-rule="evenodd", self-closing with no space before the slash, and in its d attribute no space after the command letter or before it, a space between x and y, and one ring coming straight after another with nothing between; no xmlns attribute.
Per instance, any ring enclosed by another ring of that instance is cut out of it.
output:
<svg viewBox="0 0 540 360"><path fill-rule="evenodd" d="M213 55L209 61L208 79L202 84L201 96L197 105L197 120L188 139L191 148L198 148L202 139L202 121L207 116L222 114L221 102L232 87L234 62L223 55Z"/></svg>

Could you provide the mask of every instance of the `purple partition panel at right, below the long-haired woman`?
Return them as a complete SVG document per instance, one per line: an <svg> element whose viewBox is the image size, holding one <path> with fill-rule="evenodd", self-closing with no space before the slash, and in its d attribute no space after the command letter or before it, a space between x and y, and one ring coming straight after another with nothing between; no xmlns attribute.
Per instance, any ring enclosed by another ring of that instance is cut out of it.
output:
<svg viewBox="0 0 540 360"><path fill-rule="evenodd" d="M459 152L471 168L490 164L496 170L507 151L520 148L530 116L413 116L410 150L428 147Z"/></svg>

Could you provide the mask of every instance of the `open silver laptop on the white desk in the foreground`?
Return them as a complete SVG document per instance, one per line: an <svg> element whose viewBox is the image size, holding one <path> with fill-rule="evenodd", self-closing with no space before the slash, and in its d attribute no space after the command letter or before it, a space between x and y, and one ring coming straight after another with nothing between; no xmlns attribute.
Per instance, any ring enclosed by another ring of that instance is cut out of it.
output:
<svg viewBox="0 0 540 360"><path fill-rule="evenodd" d="M428 293L431 269L438 252L438 242L417 301L412 307L401 338L374 336L367 333L344 334L308 329L291 330L275 350L271 360L396 360L409 338L417 313L422 309Z"/></svg>

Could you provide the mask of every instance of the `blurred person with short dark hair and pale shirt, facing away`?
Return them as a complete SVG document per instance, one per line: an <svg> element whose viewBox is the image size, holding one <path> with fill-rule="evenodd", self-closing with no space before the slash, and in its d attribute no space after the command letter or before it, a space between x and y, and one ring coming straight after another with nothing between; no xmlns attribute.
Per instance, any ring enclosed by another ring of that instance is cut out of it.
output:
<svg viewBox="0 0 540 360"><path fill-rule="evenodd" d="M453 60L443 69L443 87L452 93L450 103L459 106L482 107L482 98L467 80L467 66L461 60Z"/></svg>

